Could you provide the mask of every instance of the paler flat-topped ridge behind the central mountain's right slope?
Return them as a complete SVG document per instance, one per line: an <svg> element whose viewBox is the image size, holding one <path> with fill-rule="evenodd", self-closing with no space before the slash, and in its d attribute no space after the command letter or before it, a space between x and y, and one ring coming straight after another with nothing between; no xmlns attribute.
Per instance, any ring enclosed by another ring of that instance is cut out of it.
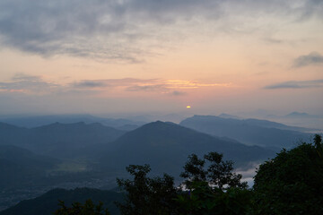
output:
<svg viewBox="0 0 323 215"><path fill-rule="evenodd" d="M218 116L193 116L180 125L209 133L225 136L249 145L267 147L292 147L300 140L309 141L309 133L292 131L294 127L258 119L232 119ZM278 129L279 128L279 129Z"/></svg>

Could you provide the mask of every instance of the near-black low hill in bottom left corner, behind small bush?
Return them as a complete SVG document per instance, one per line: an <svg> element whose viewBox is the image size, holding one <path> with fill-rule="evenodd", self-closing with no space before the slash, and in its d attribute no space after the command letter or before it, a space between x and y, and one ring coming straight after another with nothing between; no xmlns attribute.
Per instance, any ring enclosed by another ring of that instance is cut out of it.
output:
<svg viewBox="0 0 323 215"><path fill-rule="evenodd" d="M31 200L19 202L15 206L0 211L0 215L52 215L58 206L58 200L64 201L70 207L72 202L85 202L92 199L98 204L103 202L103 207L108 208L111 215L119 214L115 201L122 201L122 193L91 188L76 188L74 190L53 189Z"/></svg>

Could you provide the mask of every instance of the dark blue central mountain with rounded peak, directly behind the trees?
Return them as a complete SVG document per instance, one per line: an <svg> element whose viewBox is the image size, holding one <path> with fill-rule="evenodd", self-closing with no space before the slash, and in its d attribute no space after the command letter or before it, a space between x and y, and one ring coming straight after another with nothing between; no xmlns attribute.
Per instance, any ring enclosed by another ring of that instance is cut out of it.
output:
<svg viewBox="0 0 323 215"><path fill-rule="evenodd" d="M103 151L103 150L102 150ZM108 169L124 169L129 164L150 164L154 171L179 176L188 155L203 155L209 151L224 154L237 166L264 160L274 155L272 150L231 142L173 123L160 121L143 125L124 134L106 148L101 164Z"/></svg>

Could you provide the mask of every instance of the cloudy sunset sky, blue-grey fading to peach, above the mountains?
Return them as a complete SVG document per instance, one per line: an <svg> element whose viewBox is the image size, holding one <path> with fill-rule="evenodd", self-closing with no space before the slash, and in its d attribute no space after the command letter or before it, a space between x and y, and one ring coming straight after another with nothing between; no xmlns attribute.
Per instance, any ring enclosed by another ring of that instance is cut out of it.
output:
<svg viewBox="0 0 323 215"><path fill-rule="evenodd" d="M1 0L0 65L0 115L323 114L323 1Z"/></svg>

